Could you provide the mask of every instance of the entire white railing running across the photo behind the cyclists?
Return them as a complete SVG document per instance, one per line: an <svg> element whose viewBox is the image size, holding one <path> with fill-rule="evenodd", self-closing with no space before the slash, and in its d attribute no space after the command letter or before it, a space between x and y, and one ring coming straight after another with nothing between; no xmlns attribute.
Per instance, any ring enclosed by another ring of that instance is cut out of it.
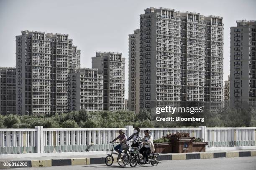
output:
<svg viewBox="0 0 256 170"><path fill-rule="evenodd" d="M0 129L0 154L15 153L58 153L109 150L109 141L116 138L118 130L124 130L127 137L133 133L133 126L125 128L57 128L47 129ZM154 139L169 133L189 133L208 142L207 147L256 146L256 127L253 128L141 128L150 130Z"/></svg>

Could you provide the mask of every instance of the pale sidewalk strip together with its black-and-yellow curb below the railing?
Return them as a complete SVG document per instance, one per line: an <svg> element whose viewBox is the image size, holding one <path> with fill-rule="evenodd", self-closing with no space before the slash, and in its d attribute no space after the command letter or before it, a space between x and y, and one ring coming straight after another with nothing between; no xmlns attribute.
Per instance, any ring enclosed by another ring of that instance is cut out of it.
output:
<svg viewBox="0 0 256 170"><path fill-rule="evenodd" d="M29 154L26 154L29 156ZM190 160L190 159L210 159L210 158L233 158L233 157L256 156L256 150L212 150L199 153L167 153L160 154L159 160ZM29 167L51 167L63 165L90 165L104 164L106 155L74 155L74 156L44 156L44 157L24 157L24 158L1 158L0 169L7 168L29 168ZM116 163L117 155L114 155ZM7 166L8 165L8 166Z"/></svg>

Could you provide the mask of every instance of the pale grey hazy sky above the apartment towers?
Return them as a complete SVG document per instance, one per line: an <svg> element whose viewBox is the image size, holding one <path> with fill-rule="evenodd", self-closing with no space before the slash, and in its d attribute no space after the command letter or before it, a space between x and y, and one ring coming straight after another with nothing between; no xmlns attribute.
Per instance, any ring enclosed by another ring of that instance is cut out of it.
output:
<svg viewBox="0 0 256 170"><path fill-rule="evenodd" d="M81 67L96 51L122 52L128 98L128 34L147 7L223 17L224 80L229 75L230 27L256 20L256 0L0 0L0 67L15 67L15 36L22 30L69 34L81 50Z"/></svg>

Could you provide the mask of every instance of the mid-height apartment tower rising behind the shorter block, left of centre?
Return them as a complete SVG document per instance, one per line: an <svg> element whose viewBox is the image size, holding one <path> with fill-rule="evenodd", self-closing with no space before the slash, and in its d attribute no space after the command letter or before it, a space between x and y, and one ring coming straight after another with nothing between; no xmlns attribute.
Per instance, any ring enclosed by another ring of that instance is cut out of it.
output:
<svg viewBox="0 0 256 170"><path fill-rule="evenodd" d="M92 68L103 74L103 110L125 110L125 58L118 52L96 52Z"/></svg>

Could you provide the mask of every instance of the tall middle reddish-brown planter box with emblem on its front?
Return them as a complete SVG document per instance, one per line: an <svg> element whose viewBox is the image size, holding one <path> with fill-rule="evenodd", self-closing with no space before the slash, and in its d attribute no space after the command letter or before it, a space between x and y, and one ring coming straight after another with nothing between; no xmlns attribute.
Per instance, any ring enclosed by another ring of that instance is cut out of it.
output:
<svg viewBox="0 0 256 170"><path fill-rule="evenodd" d="M173 153L191 153L195 137L164 137L170 139Z"/></svg>

